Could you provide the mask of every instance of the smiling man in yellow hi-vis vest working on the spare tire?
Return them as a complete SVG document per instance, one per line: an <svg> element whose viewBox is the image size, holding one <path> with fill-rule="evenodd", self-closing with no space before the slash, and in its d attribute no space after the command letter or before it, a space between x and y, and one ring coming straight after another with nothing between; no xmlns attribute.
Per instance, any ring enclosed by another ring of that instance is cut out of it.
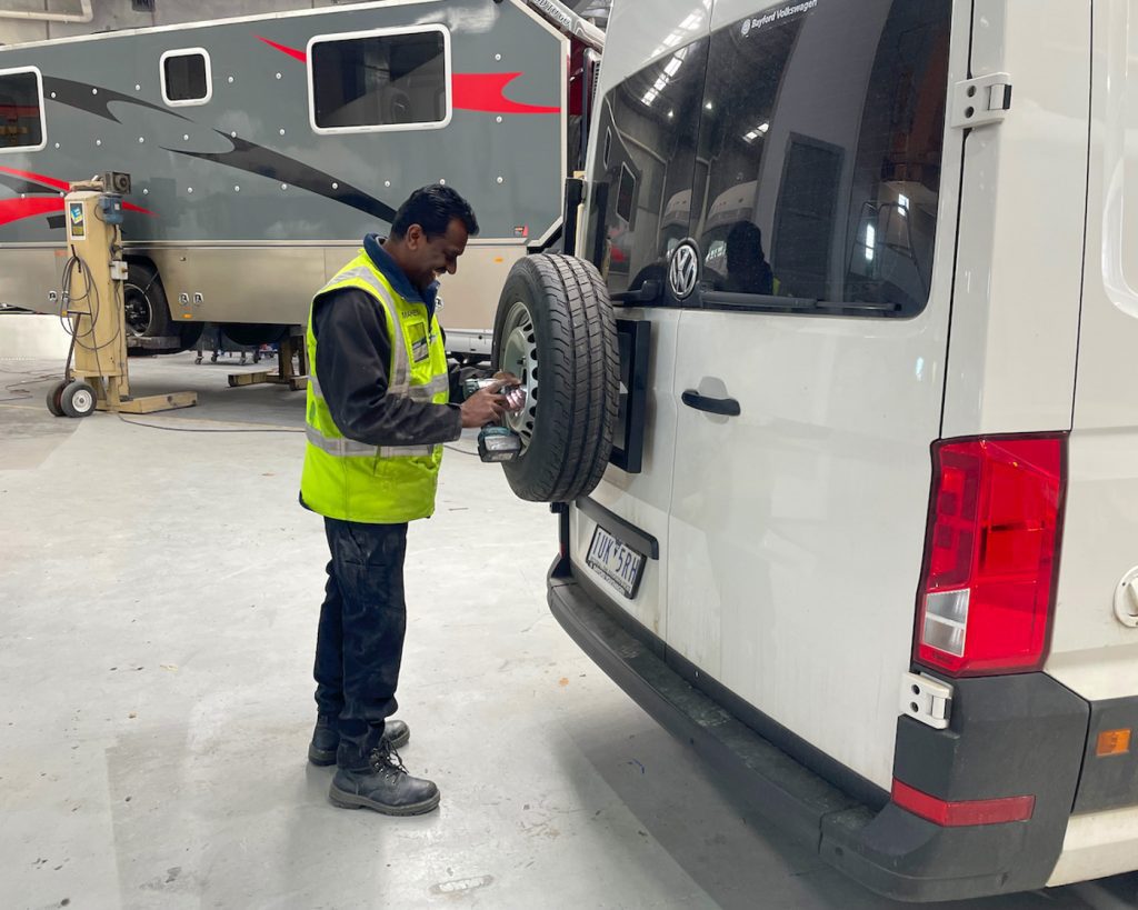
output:
<svg viewBox="0 0 1138 910"><path fill-rule="evenodd" d="M448 404L436 279L454 274L478 233L470 205L445 185L417 190L386 240L363 249L312 301L307 436L300 502L324 516L331 561L316 636L314 764L338 766L339 806L429 812L438 787L412 777L389 720L403 654L407 522L435 507L443 444L498 417L501 381Z"/></svg>

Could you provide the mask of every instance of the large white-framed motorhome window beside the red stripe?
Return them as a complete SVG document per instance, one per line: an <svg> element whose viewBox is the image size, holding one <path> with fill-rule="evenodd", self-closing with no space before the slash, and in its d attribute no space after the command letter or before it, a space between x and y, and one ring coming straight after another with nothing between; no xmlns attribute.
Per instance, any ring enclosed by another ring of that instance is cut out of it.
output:
<svg viewBox="0 0 1138 910"><path fill-rule="evenodd" d="M446 119L448 86L442 31L318 41L311 59L318 130Z"/></svg>

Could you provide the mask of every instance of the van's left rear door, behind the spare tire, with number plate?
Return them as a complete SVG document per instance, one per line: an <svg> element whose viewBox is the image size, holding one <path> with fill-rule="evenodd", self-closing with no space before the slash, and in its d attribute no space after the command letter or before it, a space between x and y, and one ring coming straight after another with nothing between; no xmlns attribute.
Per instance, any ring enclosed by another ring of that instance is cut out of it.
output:
<svg viewBox="0 0 1138 910"><path fill-rule="evenodd" d="M671 5L677 6L677 5ZM660 638L667 636L668 511L677 403L671 397L678 309L663 292L666 257L687 231L710 16L690 3L643 16L617 5L607 30L600 101L591 144L587 231L621 323L646 328L643 417L624 396L617 446L643 445L641 465L610 465L570 512L575 576ZM646 326L645 326L646 324ZM641 338L645 333L640 334ZM629 336L622 336L622 345ZM627 364L629 350L622 350ZM642 351L643 354L643 351ZM634 384L625 377L625 392ZM624 462L622 462L624 463Z"/></svg>

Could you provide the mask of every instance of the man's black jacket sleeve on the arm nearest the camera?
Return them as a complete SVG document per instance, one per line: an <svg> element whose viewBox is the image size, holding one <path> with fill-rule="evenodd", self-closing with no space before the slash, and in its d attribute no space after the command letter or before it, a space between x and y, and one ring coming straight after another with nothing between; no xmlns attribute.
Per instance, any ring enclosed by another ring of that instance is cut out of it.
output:
<svg viewBox="0 0 1138 910"><path fill-rule="evenodd" d="M316 379L332 421L348 439L371 446L424 446L462 433L456 405L388 396L391 340L376 301L356 288L316 304Z"/></svg>

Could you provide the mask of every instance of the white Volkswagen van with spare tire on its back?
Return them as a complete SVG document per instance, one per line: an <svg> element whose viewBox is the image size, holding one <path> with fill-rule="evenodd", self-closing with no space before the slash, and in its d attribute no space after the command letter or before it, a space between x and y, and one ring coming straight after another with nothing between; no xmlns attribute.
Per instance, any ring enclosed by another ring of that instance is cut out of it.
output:
<svg viewBox="0 0 1138 910"><path fill-rule="evenodd" d="M1138 868L1135 55L1138 0L617 0L597 270L503 295L553 613L885 895Z"/></svg>

